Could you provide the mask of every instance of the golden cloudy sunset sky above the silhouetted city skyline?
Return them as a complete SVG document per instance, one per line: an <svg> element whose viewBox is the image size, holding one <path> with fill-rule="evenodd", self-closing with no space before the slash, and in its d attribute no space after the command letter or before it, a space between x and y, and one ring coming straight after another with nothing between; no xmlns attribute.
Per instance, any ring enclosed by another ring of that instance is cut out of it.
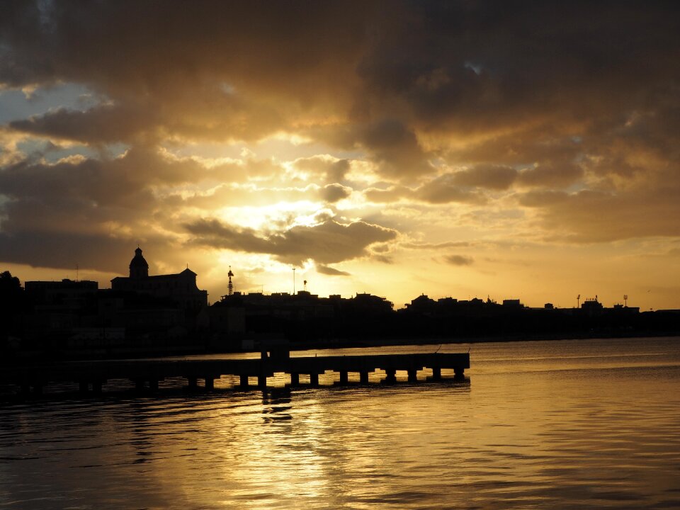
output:
<svg viewBox="0 0 680 510"><path fill-rule="evenodd" d="M680 308L678 11L2 1L0 269Z"/></svg>

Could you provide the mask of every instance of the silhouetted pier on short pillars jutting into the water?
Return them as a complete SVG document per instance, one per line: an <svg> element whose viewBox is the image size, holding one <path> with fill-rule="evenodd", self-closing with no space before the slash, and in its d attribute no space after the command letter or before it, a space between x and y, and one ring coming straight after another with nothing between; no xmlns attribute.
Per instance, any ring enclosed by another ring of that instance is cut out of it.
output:
<svg viewBox="0 0 680 510"><path fill-rule="evenodd" d="M260 358L251 359L135 359L113 361L62 361L18 365L4 368L1 384L21 387L24 394L40 394L49 383L76 382L82 393L102 391L108 380L128 379L138 390L157 390L159 381L168 378L186 378L188 387L198 388L203 381L205 390L215 387L222 375L239 379L239 387L250 387L250 378L256 378L254 387L265 388L266 378L275 373L290 375L290 386L300 386L300 375L309 377L309 385L319 385L319 375L329 371L339 373L340 384L348 383L349 373L358 373L359 382L368 384L368 375L384 370L382 382L395 384L397 371L407 373L409 382L418 380L418 372L429 369L430 380L441 380L441 370L453 370L454 380L465 378L470 368L468 353L414 353L376 354L350 356L300 356L290 357L287 350L263 351Z"/></svg>

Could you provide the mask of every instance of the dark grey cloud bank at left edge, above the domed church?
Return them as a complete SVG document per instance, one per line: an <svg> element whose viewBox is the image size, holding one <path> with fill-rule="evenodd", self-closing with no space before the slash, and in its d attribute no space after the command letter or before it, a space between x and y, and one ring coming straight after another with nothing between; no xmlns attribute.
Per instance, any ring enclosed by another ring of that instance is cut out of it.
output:
<svg viewBox="0 0 680 510"><path fill-rule="evenodd" d="M111 271L130 244L147 241L167 254L176 235L162 189L208 175L196 162L142 149L115 159L10 164L0 169L0 258Z"/></svg>

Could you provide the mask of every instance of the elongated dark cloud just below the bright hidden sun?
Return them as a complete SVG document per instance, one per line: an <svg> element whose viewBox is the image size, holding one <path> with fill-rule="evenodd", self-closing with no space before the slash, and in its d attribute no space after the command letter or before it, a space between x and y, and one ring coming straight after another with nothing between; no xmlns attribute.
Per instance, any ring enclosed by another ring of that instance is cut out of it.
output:
<svg viewBox="0 0 680 510"><path fill-rule="evenodd" d="M301 265L313 260L322 266L367 256L368 246L396 239L397 232L365 222L348 225L327 220L311 227L295 226L266 237L254 229L238 229L218 220L184 225L193 243L217 249L273 254L281 262Z"/></svg>

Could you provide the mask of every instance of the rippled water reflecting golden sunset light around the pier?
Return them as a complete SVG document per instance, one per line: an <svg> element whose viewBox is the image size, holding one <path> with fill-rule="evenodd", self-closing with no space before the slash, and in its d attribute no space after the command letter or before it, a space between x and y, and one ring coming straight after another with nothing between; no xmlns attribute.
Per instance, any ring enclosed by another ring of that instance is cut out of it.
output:
<svg viewBox="0 0 680 510"><path fill-rule="evenodd" d="M461 383L1 404L0 507L680 508L680 339L470 356Z"/></svg>

